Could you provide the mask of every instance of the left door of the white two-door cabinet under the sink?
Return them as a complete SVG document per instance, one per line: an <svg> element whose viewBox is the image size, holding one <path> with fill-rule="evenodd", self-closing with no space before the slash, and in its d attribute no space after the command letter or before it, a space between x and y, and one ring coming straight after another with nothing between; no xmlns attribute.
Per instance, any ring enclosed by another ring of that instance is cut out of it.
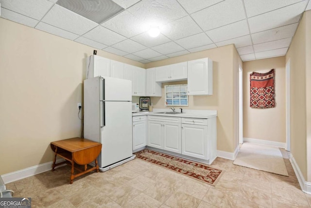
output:
<svg viewBox="0 0 311 208"><path fill-rule="evenodd" d="M148 121L148 139L147 145L158 149L163 149L162 127L163 122Z"/></svg>

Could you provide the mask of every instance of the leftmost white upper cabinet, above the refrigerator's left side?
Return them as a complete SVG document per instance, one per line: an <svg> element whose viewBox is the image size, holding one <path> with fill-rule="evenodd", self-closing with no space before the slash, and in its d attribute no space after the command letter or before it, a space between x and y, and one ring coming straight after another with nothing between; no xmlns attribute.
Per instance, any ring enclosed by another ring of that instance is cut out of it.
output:
<svg viewBox="0 0 311 208"><path fill-rule="evenodd" d="M110 59L91 55L86 59L86 79L95 76L110 76Z"/></svg>

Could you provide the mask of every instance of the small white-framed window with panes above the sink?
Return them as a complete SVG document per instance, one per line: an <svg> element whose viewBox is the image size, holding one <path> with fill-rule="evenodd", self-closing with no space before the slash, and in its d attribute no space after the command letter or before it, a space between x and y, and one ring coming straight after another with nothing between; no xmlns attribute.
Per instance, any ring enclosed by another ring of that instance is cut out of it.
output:
<svg viewBox="0 0 311 208"><path fill-rule="evenodd" d="M188 106L187 84L165 86L166 106Z"/></svg>

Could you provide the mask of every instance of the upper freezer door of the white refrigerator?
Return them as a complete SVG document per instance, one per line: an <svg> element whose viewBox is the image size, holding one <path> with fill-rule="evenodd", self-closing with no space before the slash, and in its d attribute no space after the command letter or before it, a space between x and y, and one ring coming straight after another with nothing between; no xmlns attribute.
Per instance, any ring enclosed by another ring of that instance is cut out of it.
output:
<svg viewBox="0 0 311 208"><path fill-rule="evenodd" d="M113 77L103 77L105 86L104 100L132 101L132 81Z"/></svg>

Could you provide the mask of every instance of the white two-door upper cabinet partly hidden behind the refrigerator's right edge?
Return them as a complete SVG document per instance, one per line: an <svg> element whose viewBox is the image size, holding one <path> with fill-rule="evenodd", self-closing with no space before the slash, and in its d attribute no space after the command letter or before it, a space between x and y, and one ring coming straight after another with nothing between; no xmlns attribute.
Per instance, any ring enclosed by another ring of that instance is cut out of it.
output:
<svg viewBox="0 0 311 208"><path fill-rule="evenodd" d="M132 81L132 96L145 96L145 69L129 64L124 64L124 79Z"/></svg>

